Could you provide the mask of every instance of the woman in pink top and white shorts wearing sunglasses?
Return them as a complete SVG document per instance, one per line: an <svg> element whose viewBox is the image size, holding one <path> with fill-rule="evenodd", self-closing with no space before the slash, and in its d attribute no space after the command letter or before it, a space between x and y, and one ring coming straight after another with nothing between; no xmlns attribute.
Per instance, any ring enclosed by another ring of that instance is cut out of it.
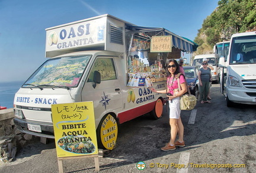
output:
<svg viewBox="0 0 256 173"><path fill-rule="evenodd" d="M151 89L152 92L155 93L170 93L169 97L169 124L171 126L171 139L162 147L162 151L169 151L176 149L175 146L185 146L185 142L183 141L184 135L184 126L181 122L180 117L180 96L187 92L187 87L185 85L185 77L184 75L180 75L180 86L181 90L178 91L178 80L176 79L176 75L180 73L180 67L176 60L167 61L167 89L159 90ZM178 141L175 141L178 133Z"/></svg>

